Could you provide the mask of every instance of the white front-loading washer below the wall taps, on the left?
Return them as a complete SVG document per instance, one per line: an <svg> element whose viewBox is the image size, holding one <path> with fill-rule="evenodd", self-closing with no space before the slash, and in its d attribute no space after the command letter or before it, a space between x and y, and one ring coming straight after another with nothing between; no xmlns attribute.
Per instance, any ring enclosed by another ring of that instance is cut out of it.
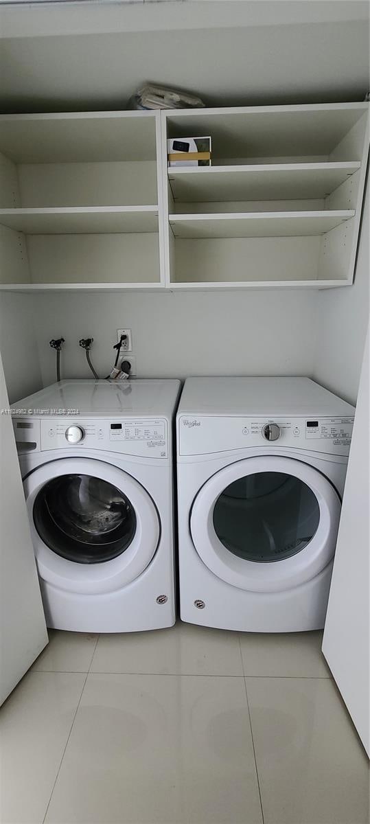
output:
<svg viewBox="0 0 370 824"><path fill-rule="evenodd" d="M12 407L49 627L133 632L176 618L175 380L62 381Z"/></svg>

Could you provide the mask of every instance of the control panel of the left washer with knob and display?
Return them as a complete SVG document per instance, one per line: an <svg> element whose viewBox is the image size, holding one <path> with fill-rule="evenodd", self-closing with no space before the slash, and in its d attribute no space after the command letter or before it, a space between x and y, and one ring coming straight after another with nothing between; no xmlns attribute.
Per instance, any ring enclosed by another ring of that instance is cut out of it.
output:
<svg viewBox="0 0 370 824"><path fill-rule="evenodd" d="M102 449L138 457L168 458L166 419L66 419L40 421L41 450Z"/></svg>

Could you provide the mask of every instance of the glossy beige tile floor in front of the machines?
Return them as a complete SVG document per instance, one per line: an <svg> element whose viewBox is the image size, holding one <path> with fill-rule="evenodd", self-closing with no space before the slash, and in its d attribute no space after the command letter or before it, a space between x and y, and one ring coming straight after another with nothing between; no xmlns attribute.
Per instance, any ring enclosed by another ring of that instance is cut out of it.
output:
<svg viewBox="0 0 370 824"><path fill-rule="evenodd" d="M2 824L368 824L321 633L51 632L0 740Z"/></svg>

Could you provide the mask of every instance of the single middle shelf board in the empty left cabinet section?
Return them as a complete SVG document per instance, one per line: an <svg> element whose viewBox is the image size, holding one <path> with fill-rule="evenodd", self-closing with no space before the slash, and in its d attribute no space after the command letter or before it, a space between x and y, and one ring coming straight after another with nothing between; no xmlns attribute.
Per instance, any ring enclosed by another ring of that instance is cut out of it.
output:
<svg viewBox="0 0 370 824"><path fill-rule="evenodd" d="M157 232L157 206L0 209L0 223L28 235Z"/></svg>

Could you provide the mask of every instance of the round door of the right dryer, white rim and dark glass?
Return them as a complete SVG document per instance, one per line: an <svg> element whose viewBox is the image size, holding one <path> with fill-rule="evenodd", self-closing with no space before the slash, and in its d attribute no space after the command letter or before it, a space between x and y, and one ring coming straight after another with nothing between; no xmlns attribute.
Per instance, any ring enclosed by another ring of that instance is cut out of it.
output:
<svg viewBox="0 0 370 824"><path fill-rule="evenodd" d="M218 578L252 592L297 587L335 553L340 497L294 458L260 456L218 471L190 513L194 547Z"/></svg>

